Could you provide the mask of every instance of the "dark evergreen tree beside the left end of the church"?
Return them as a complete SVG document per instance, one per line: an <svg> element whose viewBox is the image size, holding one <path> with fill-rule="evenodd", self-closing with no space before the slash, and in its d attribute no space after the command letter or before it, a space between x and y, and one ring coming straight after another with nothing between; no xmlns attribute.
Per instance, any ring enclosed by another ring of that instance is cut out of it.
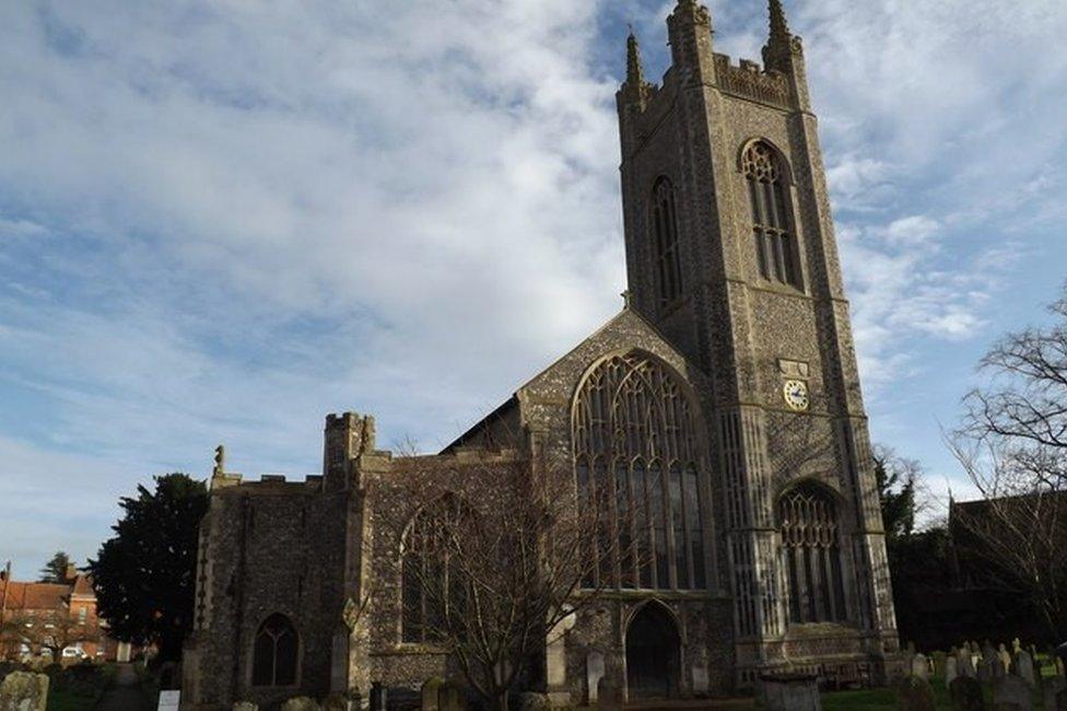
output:
<svg viewBox="0 0 1067 711"><path fill-rule="evenodd" d="M155 491L138 486L124 498L115 536L89 563L98 614L109 633L134 644L155 643L161 660L177 660L192 629L197 540L207 512L202 481L184 474L155 477Z"/></svg>

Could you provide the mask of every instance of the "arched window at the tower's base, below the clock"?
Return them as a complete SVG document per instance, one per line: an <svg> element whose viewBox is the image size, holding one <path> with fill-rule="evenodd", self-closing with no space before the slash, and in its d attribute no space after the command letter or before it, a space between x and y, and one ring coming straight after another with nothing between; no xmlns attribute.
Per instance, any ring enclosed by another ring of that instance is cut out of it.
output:
<svg viewBox="0 0 1067 711"><path fill-rule="evenodd" d="M778 522L788 575L790 621L845 619L837 506L832 496L810 482L790 489L778 502Z"/></svg>

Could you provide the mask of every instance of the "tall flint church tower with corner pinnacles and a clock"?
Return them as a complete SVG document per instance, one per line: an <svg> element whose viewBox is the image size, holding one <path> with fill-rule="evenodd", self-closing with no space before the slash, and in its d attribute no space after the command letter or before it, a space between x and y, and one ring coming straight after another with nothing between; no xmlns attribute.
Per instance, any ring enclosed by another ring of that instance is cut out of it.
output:
<svg viewBox="0 0 1067 711"><path fill-rule="evenodd" d="M808 618L854 618L880 657L898 645L892 594L804 46L781 0L763 68L715 54L695 0L667 22L663 84L645 80L631 35L618 93L626 268L634 308L712 380L738 680L824 646L790 629ZM779 494L799 478L847 512L852 583L824 601L842 607L829 616L797 604L805 581L781 553Z"/></svg>

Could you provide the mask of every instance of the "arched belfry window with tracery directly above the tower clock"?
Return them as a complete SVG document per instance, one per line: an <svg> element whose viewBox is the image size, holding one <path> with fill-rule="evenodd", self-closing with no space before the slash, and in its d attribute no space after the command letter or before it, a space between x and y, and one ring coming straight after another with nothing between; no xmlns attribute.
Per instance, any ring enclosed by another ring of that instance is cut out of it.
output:
<svg viewBox="0 0 1067 711"><path fill-rule="evenodd" d="M760 276L800 288L797 248L789 220L789 191L774 149L763 141L749 145L741 164L752 205L752 233Z"/></svg>

